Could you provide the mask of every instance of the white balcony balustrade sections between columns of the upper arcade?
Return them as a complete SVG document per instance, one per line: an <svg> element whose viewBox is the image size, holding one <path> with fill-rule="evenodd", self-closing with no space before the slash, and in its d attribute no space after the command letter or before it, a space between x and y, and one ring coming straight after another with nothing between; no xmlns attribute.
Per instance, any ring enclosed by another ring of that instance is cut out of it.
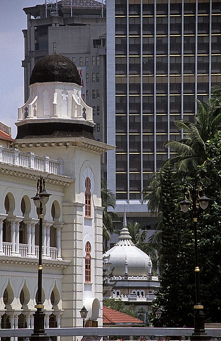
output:
<svg viewBox="0 0 221 341"><path fill-rule="evenodd" d="M12 243L2 242L2 249L5 256L12 255ZM28 258L28 245L19 244L19 254L20 257ZM35 257L39 258L39 246L35 246ZM53 261L58 259L58 249L57 247L50 247L50 258Z"/></svg>

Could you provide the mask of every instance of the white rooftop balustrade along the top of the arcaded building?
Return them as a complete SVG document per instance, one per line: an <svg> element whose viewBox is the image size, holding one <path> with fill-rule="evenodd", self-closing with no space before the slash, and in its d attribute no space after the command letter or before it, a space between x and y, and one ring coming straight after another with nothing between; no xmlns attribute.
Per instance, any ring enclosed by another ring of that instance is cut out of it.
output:
<svg viewBox="0 0 221 341"><path fill-rule="evenodd" d="M52 174L63 175L63 161L53 160L48 156L38 156L33 152L23 153L17 149L0 146L0 163L11 164L34 170L46 171Z"/></svg>

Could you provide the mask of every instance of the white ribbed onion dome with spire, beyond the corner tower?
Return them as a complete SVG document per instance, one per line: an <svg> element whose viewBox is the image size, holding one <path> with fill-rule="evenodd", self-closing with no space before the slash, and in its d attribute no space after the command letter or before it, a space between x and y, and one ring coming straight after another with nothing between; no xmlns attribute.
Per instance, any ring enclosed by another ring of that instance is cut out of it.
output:
<svg viewBox="0 0 221 341"><path fill-rule="evenodd" d="M125 270L128 276L151 275L150 257L134 245L127 227L122 228L118 243L105 256L108 257L108 263L111 263L114 276L124 276Z"/></svg>

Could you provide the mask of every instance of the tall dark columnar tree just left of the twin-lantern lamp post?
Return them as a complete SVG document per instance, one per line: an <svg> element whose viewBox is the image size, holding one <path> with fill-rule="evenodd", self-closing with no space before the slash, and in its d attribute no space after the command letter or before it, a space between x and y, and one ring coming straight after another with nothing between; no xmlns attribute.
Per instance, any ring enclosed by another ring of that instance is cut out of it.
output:
<svg viewBox="0 0 221 341"><path fill-rule="evenodd" d="M160 325L166 327L192 326L194 298L194 269L192 232L189 217L183 219L178 205L182 187L177 173L170 167L161 172L161 243L159 258L161 288L156 295L153 312L163 307ZM159 233L159 232L157 232ZM159 321L153 314L153 323Z"/></svg>

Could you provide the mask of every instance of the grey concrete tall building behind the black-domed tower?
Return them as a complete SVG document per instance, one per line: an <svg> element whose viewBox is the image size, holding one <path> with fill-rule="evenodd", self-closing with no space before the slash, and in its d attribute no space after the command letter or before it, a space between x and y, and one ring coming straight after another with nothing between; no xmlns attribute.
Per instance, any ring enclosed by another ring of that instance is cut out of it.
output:
<svg viewBox="0 0 221 341"><path fill-rule="evenodd" d="M82 98L93 108L94 136L104 142L106 18L103 17L102 3L95 0L46 0L45 4L23 10L27 15L27 29L22 31L24 100L28 99L29 80L37 61L53 53L70 58L80 72Z"/></svg>

